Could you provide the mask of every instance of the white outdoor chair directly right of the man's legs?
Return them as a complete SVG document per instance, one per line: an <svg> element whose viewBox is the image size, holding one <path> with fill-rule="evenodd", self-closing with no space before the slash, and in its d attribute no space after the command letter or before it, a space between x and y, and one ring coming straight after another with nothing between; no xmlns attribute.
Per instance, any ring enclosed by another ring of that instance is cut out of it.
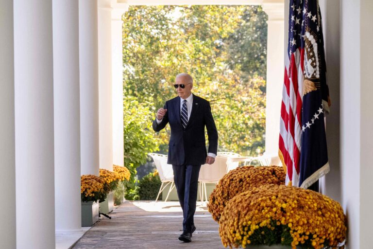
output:
<svg viewBox="0 0 373 249"><path fill-rule="evenodd" d="M230 156L221 155L218 152L213 164L203 164L200 169L200 175L198 177L200 185L200 199L203 201L203 197L207 202L207 191L206 183L218 184L220 178L227 174L227 160Z"/></svg>

